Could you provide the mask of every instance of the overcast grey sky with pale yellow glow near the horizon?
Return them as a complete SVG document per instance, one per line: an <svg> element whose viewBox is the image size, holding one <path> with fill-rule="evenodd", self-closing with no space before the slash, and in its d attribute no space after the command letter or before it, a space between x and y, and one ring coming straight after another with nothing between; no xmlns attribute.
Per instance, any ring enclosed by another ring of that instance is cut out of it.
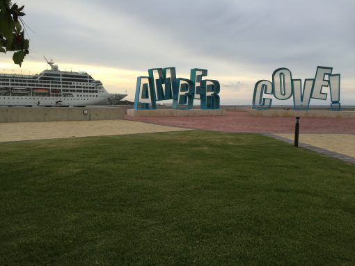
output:
<svg viewBox="0 0 355 266"><path fill-rule="evenodd" d="M136 76L149 68L176 67L178 77L189 78L198 67L220 81L222 104L251 104L255 83L271 80L278 67L304 80L320 65L342 75L341 102L355 105L354 0L17 3L25 5L24 21L34 31L27 29L31 50L23 73L47 69L46 56L134 99ZM0 68L19 71L10 55L1 56Z"/></svg>

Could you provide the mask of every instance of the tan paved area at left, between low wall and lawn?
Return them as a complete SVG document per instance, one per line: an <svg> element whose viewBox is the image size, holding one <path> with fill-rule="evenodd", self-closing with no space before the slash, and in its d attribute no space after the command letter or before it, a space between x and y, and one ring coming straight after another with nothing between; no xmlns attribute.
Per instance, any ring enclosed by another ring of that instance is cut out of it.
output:
<svg viewBox="0 0 355 266"><path fill-rule="evenodd" d="M0 142L186 130L127 120L0 123Z"/></svg>

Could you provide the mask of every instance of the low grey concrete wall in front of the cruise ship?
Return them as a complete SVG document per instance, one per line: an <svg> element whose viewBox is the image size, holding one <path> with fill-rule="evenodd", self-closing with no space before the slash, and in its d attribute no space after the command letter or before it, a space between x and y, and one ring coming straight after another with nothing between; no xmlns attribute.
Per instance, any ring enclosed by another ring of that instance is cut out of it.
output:
<svg viewBox="0 0 355 266"><path fill-rule="evenodd" d="M88 113L84 115L84 110ZM1 107L0 123L123 119L120 107Z"/></svg>

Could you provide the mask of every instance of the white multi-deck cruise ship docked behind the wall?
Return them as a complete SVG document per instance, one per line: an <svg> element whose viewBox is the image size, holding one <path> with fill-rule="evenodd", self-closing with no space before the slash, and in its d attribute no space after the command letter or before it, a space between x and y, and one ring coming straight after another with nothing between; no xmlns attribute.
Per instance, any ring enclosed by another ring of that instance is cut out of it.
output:
<svg viewBox="0 0 355 266"><path fill-rule="evenodd" d="M46 59L47 60L47 59ZM91 106L116 104L127 94L110 94L86 72L50 70L37 75L0 74L0 106Z"/></svg>

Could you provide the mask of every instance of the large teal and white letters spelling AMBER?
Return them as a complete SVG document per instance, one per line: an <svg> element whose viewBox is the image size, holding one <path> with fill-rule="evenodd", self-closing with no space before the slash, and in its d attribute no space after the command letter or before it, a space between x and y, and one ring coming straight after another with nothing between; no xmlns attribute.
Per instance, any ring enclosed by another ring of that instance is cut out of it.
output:
<svg viewBox="0 0 355 266"><path fill-rule="evenodd" d="M149 69L148 76L137 78L134 109L156 109L157 101L171 99L177 109L191 109L194 99L201 109L219 109L219 82L204 76L207 69L191 69L190 79L176 78L175 67Z"/></svg>

